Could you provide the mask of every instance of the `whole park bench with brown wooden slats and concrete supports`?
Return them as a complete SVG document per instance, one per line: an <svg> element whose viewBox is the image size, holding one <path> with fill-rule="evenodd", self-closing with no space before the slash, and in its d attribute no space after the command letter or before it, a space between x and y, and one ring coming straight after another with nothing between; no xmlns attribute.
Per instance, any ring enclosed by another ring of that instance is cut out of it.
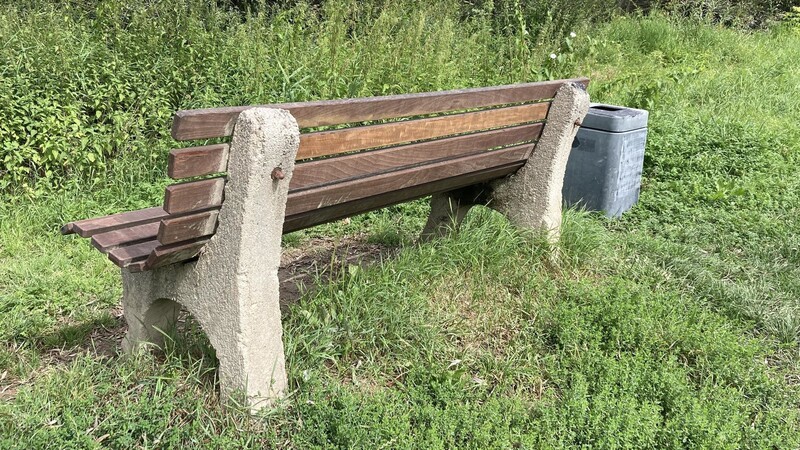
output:
<svg viewBox="0 0 800 450"><path fill-rule="evenodd" d="M259 408L287 384L283 233L432 195L423 237L482 204L556 238L587 82L179 111L175 140L232 138L172 150L168 175L188 181L163 205L62 233L122 269L126 351L163 342L183 305L216 350L222 393L244 390Z"/></svg>

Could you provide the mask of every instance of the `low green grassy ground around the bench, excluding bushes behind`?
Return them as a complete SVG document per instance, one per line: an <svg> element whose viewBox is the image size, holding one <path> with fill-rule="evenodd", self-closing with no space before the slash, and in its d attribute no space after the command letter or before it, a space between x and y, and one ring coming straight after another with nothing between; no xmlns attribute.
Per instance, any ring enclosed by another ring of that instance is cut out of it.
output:
<svg viewBox="0 0 800 450"><path fill-rule="evenodd" d="M556 261L481 208L414 245L421 202L287 238L397 250L331 260L291 305L291 392L258 420L218 403L190 319L164 353L117 355L118 275L57 234L157 203L158 169L0 204L0 447L800 446L800 34L659 17L577 31L537 67L651 111L636 208L568 212Z"/></svg>

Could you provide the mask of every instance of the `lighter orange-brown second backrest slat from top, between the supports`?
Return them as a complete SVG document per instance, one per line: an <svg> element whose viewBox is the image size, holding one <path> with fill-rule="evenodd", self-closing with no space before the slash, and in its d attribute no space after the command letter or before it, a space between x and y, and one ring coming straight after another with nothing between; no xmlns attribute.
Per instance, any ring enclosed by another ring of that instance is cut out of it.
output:
<svg viewBox="0 0 800 450"><path fill-rule="evenodd" d="M550 103L534 103L429 119L320 131L300 135L297 159L335 155L373 147L534 122L547 117Z"/></svg>

